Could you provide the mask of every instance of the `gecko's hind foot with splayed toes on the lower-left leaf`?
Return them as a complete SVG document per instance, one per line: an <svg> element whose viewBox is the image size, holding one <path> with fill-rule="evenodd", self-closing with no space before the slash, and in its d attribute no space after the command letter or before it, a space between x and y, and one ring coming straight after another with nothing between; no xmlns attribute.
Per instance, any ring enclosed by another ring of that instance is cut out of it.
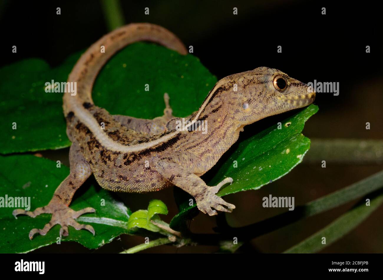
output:
<svg viewBox="0 0 383 280"><path fill-rule="evenodd" d="M95 235L95 230L92 226L81 225L75 221L75 219L80 217L82 214L94 212L96 212L96 210L92 207L87 207L82 210L75 211L62 203L49 203L47 206L36 208L34 211L15 209L13 210L12 214L16 219L17 215L28 215L29 217L34 218L43 213L52 214L51 221L49 221L49 223L47 223L42 230L34 228L33 230L29 231L29 239L32 240L34 234L39 233L41 235L45 235L54 225L57 224L61 225L60 237L62 235L68 235L68 226L73 226L76 230L81 230L84 228L85 230L88 230L93 233L93 235Z"/></svg>

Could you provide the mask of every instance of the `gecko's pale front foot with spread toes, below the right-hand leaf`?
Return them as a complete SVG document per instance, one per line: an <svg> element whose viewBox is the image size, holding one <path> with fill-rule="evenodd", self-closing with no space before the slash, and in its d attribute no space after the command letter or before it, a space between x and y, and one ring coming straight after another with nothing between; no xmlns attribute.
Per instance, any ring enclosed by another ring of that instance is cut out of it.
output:
<svg viewBox="0 0 383 280"><path fill-rule="evenodd" d="M223 181L221 181L217 186L214 187L206 187L201 194L198 194L195 196L197 207L200 209L203 213L208 213L208 215L213 216L217 215L217 211L223 211L223 212L232 212L232 210L235 207L235 205L226 202L225 200L221 199L216 193L224 184L232 183L233 179L228 177L225 178ZM227 208L223 207L226 206ZM211 209L211 208L214 208Z"/></svg>

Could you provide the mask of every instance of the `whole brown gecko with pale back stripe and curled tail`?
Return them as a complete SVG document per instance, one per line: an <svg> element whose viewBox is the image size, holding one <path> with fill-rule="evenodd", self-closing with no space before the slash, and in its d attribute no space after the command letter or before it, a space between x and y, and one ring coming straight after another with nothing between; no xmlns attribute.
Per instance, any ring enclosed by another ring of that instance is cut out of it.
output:
<svg viewBox="0 0 383 280"><path fill-rule="evenodd" d="M63 96L66 133L72 142L69 150L70 174L55 190L51 201L34 211L16 209L13 215L36 217L52 214L43 229L45 235L61 225L60 236L68 226L95 235L91 225L76 219L94 213L87 207L79 211L69 205L77 189L93 174L101 187L114 192L153 192L177 186L195 199L198 209L208 215L232 212L235 205L216 195L233 179L224 178L207 186L201 176L211 169L237 141L245 125L260 119L313 103L315 92L280 70L258 67L219 80L198 111L188 116L185 129L177 127L180 117L172 115L169 95L164 94L164 115L152 120L111 115L92 100L93 83L103 65L123 47L138 41L160 44L182 55L187 49L173 33L150 23L132 23L101 37L82 54L68 77L77 84L77 94ZM105 52L100 51L104 46ZM206 122L206 133L190 129Z"/></svg>

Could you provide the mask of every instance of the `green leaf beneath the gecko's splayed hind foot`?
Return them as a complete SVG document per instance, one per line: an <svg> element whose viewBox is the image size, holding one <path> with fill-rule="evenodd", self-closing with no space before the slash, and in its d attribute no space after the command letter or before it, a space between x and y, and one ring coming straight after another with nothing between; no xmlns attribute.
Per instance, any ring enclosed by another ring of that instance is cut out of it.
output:
<svg viewBox="0 0 383 280"><path fill-rule="evenodd" d="M69 168L56 162L32 155L0 156L0 194L8 197L29 197L30 210L43 207L51 200L54 190L69 174ZM77 219L79 223L90 224L95 236L87 230L75 230L69 226L69 235L61 242L76 241L85 247L95 249L109 243L128 230L131 211L123 203L116 201L110 192L85 183L79 190L70 207L80 210L93 207L96 213L84 214ZM101 200L105 206L101 206ZM39 247L56 243L59 225L54 226L45 236L36 234L29 240L28 233L33 228L43 228L51 215L42 214L36 218L20 215L15 219L12 211L20 207L0 208L0 253L29 252Z"/></svg>

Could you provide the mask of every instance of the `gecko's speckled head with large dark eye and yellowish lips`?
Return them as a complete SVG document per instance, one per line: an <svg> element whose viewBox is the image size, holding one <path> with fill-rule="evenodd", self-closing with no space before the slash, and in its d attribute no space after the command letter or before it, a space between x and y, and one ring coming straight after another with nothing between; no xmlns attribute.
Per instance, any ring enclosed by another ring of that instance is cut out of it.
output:
<svg viewBox="0 0 383 280"><path fill-rule="evenodd" d="M259 67L236 75L241 124L308 106L315 99L308 85L277 69Z"/></svg>

